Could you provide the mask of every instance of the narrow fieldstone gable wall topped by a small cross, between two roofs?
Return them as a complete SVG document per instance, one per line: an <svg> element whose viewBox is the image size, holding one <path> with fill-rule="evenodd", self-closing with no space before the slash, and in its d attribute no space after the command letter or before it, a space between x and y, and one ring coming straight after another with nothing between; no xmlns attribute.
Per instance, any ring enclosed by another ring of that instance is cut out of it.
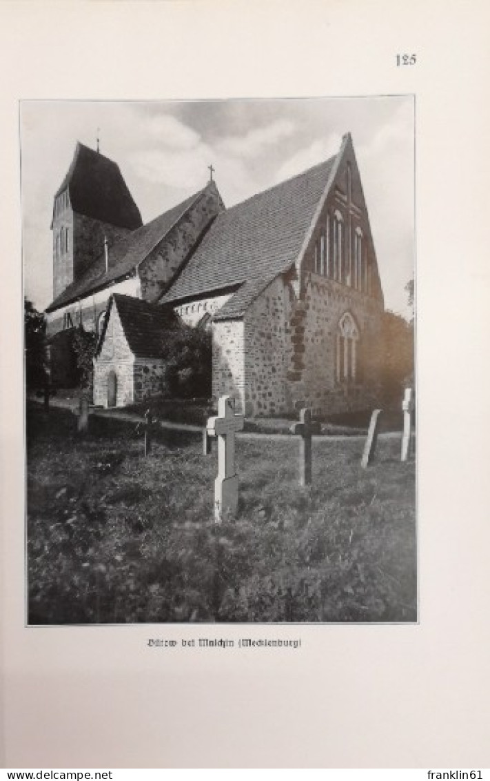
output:
<svg viewBox="0 0 490 781"><path fill-rule="evenodd" d="M221 209L222 201L218 191L215 187L208 188L144 259L139 273L141 296L145 301L158 301L169 280Z"/></svg>

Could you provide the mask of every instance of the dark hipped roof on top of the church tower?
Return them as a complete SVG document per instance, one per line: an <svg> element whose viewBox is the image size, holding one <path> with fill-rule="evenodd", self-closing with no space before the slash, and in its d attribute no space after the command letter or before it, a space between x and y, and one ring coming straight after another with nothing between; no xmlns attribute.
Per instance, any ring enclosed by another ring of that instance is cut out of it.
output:
<svg viewBox="0 0 490 781"><path fill-rule="evenodd" d="M55 198L66 188L72 209L77 214L130 230L142 224L140 210L119 166L100 152L80 144L80 141Z"/></svg>

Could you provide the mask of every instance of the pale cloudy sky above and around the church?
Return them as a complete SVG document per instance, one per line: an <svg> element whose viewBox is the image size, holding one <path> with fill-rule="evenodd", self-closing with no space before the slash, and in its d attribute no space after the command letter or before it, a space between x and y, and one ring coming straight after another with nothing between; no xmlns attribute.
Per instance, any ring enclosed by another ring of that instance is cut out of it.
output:
<svg viewBox="0 0 490 781"><path fill-rule="evenodd" d="M385 306L407 314L414 269L413 98L218 102L23 102L20 111L25 293L52 298L51 210L76 141L119 164L144 222L208 180L225 205L300 173L353 137Z"/></svg>

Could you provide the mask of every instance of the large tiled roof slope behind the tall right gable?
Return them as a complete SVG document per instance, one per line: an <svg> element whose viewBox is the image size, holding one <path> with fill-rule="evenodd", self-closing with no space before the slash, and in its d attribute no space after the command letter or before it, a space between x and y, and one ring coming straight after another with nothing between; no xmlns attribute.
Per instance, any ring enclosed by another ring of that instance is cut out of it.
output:
<svg viewBox="0 0 490 781"><path fill-rule="evenodd" d="M259 280L267 284L289 269L300 254L337 157L218 214L162 302L203 296L247 280L260 287ZM253 300L250 285L238 291L223 312L242 314ZM215 319L220 316L222 312Z"/></svg>

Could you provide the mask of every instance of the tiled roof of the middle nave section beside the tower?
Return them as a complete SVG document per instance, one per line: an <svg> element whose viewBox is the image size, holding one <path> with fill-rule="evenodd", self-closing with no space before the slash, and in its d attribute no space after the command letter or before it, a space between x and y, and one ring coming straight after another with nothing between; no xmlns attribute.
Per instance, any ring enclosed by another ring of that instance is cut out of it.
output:
<svg viewBox="0 0 490 781"><path fill-rule="evenodd" d="M172 226L200 198L205 190L206 187L191 195L190 198L186 198L179 205L174 206L169 212L156 217L151 223L133 230L133 233L128 234L109 248L108 273L105 273L105 255L102 252L98 259L83 273L80 280L66 287L66 290L60 293L48 306L46 312L52 312L60 306L76 301L77 298L82 298L96 290L108 287L115 280L119 280L133 272L138 263L144 260L156 244L165 238Z"/></svg>

